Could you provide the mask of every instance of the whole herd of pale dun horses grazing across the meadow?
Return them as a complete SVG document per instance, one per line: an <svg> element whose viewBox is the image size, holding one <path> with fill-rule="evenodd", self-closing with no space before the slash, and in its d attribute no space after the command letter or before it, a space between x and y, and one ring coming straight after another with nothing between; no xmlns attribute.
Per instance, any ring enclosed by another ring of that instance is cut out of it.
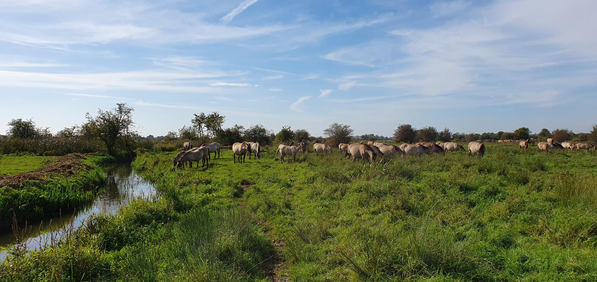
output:
<svg viewBox="0 0 597 282"><path fill-rule="evenodd" d="M518 143L519 147L524 149L527 149L530 144L536 144L536 141L531 138L527 140L505 140L502 142ZM280 144L278 145L276 154L280 154L280 162L282 163L285 162L285 157L287 156L292 157L292 160L295 161L297 154L306 152L310 143L309 140L301 140L293 141L288 145ZM590 148L594 148L597 150L597 145L594 144L573 144L572 142L562 142L562 144L560 144L558 142L553 142L552 138L548 138L547 142L538 142L537 147L539 151L545 152L552 149L588 151ZM214 158L216 158L216 156L220 157L220 144L218 142L204 143L200 147L193 147L192 142L184 142L183 148L184 150L174 157L173 164L175 167L181 168L188 163L189 167L192 168L193 162L197 162L197 166L199 166L199 161L201 161L201 167L204 167L207 163L207 167L209 168L211 153L214 153ZM482 157L485 154L485 150L484 140L469 142L469 156ZM331 153L332 150L328 144L324 144L321 140L316 140L315 144L313 144L313 151L316 153ZM431 153L445 154L450 151L465 150L464 147L457 142L418 142L417 144L405 143L396 146L388 145L384 142L361 141L354 144L340 143L338 145L338 152L344 153L344 156L347 159L352 157L353 162L355 162L356 159L362 159L364 161L368 160L370 163L375 162L377 157L406 155L421 156L423 154ZM247 154L249 155L249 159L251 159L251 156L254 156L255 159L260 159L261 145L259 142L236 142L232 144L232 153L234 154L235 163L237 161L239 163L245 162Z"/></svg>

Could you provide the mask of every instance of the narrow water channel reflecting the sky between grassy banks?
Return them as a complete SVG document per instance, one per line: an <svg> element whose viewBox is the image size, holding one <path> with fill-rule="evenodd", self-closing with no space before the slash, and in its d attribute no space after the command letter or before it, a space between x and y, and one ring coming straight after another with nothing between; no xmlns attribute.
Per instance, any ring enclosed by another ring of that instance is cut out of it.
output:
<svg viewBox="0 0 597 282"><path fill-rule="evenodd" d="M28 250L39 249L52 241L60 239L85 224L87 219L95 213L115 213L121 206L127 206L138 199L153 199L156 196L155 187L149 181L137 175L130 164L113 164L104 166L104 173L108 176L106 186L87 206L76 210L63 210L61 215L52 215L38 222L27 222L26 234L21 235L23 246ZM14 247L18 240L12 230L0 232L0 246ZM20 233L25 230L20 227ZM7 256L6 250L0 250L0 261Z"/></svg>

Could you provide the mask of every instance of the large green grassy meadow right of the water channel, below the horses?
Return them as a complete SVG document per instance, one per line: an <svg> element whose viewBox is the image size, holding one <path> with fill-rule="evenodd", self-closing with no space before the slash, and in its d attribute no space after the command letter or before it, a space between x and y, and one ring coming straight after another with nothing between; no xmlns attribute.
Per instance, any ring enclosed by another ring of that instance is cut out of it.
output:
<svg viewBox="0 0 597 282"><path fill-rule="evenodd" d="M2 281L596 281L597 159L488 145L466 153L281 164L275 148L209 169L171 153L133 168L159 196L53 247L14 253Z"/></svg>

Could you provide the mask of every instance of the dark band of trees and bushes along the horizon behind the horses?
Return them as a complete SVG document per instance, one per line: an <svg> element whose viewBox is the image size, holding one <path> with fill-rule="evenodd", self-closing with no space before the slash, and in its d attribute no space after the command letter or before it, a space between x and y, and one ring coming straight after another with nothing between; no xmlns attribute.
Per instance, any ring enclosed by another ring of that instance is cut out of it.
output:
<svg viewBox="0 0 597 282"><path fill-rule="evenodd" d="M137 123L133 122L134 109L126 103L118 103L110 110L97 110L96 114L85 114L81 125L73 125L50 133L50 128L39 127L32 119L13 119L8 122L7 135L0 135L0 153L32 152L57 156L67 153L90 153L104 151L121 159L130 158L136 149L172 151L180 147L180 141L195 141L197 145L203 142L220 142L222 145L232 145L235 142L252 141L263 145L288 144L291 141L316 140L326 142L331 147L340 143L355 140L390 140L390 137L376 134L353 135L350 125L334 122L324 129L323 136L313 137L306 129L291 129L282 126L278 133L265 128L261 124L245 128L233 125L224 128L226 116L214 111L210 114L193 114L190 125L183 125L177 131L170 131L165 136L141 137L137 132ZM448 128L438 131L433 126L414 128L404 123L398 125L392 136L398 142L435 142L456 141L470 142L475 140L524 140L536 138L545 141L553 138L562 141L590 141L597 143L597 125L593 125L589 133L578 133L568 129L541 129L538 134L532 134L526 127L512 132L499 131L478 133L453 133Z"/></svg>

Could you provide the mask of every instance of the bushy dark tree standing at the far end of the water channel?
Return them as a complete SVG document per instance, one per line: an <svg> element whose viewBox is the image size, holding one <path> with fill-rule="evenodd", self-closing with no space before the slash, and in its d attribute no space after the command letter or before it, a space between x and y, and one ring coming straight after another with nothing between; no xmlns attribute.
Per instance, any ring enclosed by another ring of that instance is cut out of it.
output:
<svg viewBox="0 0 597 282"><path fill-rule="evenodd" d="M93 137L103 141L108 153L113 154L116 142L124 138L125 146L127 146L128 138L134 133L132 130L133 110L126 103L118 103L114 109L109 111L98 109L97 116L92 116L90 113L85 114L87 123L81 127Z"/></svg>

